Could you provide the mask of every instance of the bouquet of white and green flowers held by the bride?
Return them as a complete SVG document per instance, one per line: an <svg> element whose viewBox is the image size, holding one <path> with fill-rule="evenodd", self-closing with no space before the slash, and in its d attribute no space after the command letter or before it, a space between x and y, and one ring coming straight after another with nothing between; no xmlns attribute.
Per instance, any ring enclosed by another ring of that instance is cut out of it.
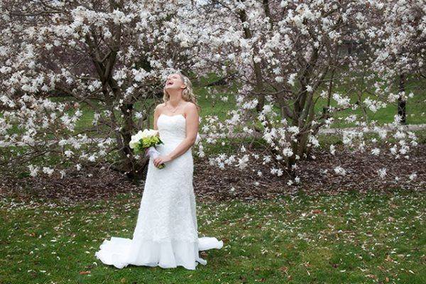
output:
<svg viewBox="0 0 426 284"><path fill-rule="evenodd" d="M145 129L131 136L129 147L133 149L136 154L146 151L146 148L148 148L146 155L155 159L160 155L160 152L155 149L155 145L157 144L163 144L163 141L158 137L158 130ZM164 167L164 163L158 165L160 169Z"/></svg>

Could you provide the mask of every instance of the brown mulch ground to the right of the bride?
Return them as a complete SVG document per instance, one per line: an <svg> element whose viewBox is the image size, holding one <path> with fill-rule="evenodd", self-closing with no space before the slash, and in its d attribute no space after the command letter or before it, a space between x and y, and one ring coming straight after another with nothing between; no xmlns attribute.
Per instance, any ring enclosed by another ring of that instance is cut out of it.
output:
<svg viewBox="0 0 426 284"><path fill-rule="evenodd" d="M261 163L244 172L229 168L218 170L206 162L197 163L195 190L198 195L212 200L273 198L278 195L293 195L298 191L307 194L336 194L350 190L426 190L426 145L413 148L408 154L408 159L395 159L386 149L382 149L378 156L367 152L351 153L342 149L337 150L335 155L329 151L315 151L312 153L315 159L297 163L293 178L285 173L280 177L271 175L269 167ZM334 168L337 166L344 168L346 175L335 173ZM380 178L377 172L381 168L386 168L384 178ZM258 170L261 170L263 177L258 177ZM416 177L410 180L413 173ZM300 184L294 182L295 177L300 178ZM289 180L293 180L293 185L288 185Z"/></svg>

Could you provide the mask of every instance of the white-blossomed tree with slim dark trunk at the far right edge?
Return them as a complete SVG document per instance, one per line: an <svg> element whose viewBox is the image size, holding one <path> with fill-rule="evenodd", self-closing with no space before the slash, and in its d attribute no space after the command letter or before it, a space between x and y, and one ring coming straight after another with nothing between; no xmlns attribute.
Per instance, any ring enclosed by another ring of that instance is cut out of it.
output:
<svg viewBox="0 0 426 284"><path fill-rule="evenodd" d="M381 17L371 23L371 33L378 38L373 72L378 72L386 85L391 102L398 100L398 119L406 123L408 75L413 80L426 78L426 10L424 1L381 1ZM398 78L395 80L395 78ZM398 92L391 92L397 84Z"/></svg>

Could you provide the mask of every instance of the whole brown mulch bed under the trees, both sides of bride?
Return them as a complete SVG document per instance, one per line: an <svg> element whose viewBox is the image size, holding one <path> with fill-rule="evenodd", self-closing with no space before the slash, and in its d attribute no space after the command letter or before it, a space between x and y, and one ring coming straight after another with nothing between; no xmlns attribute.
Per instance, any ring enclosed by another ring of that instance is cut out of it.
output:
<svg viewBox="0 0 426 284"><path fill-rule="evenodd" d="M342 191L369 190L389 191L393 189L426 189L426 145L413 148L410 158L395 159L388 150L378 156L371 153L351 153L319 150L312 153L315 159L297 163L296 175L300 184L288 185L290 176L277 177L269 173L268 165L259 163L249 169L225 168L220 170L209 165L207 159L194 159L194 190L197 200L258 200L279 195L293 195L296 192L307 194L335 194ZM340 166L346 175L334 173ZM386 176L380 178L377 170L386 168ZM258 177L258 171L263 175ZM410 175L416 174L411 180ZM395 180L399 178L399 180ZM293 178L294 180L294 178ZM54 175L51 178L23 178L1 180L0 195L17 199L31 200L33 197L60 200L97 200L114 197L117 193L134 192L142 194L144 182L136 185L125 175L114 171L89 168L68 173L65 178Z"/></svg>

